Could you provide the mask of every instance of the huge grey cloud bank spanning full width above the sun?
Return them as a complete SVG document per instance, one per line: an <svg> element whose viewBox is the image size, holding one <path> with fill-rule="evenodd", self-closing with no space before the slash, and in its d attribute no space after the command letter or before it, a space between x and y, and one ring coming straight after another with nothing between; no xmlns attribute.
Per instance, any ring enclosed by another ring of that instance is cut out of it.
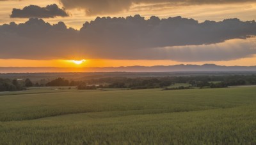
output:
<svg viewBox="0 0 256 145"><path fill-rule="evenodd" d="M220 61L256 54L256 23L140 15L97 17L80 31L38 18L0 25L1 59L147 59Z"/></svg>

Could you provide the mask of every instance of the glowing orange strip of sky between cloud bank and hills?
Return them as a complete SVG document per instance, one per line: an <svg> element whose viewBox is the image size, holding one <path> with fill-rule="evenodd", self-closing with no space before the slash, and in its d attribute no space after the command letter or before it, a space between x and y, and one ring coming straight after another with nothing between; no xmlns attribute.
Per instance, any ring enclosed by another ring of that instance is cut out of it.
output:
<svg viewBox="0 0 256 145"><path fill-rule="evenodd" d="M256 55L251 58L218 62L177 62L172 60L86 60L77 65L67 60L0 59L1 67L119 67L119 66L172 66L177 64L216 64L220 66L256 66Z"/></svg>

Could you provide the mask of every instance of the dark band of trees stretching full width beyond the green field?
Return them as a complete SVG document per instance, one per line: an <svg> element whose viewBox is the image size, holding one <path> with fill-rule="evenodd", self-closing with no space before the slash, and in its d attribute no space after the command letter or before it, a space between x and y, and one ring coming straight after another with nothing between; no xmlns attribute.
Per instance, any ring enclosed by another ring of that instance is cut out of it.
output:
<svg viewBox="0 0 256 145"><path fill-rule="evenodd" d="M166 88L175 83L189 83L197 88L225 88L236 85L256 85L256 75L226 75L226 76L165 76L165 77L108 77L98 79L85 79L81 81L56 78L52 81L33 83L30 79L0 79L0 92L26 90L31 86L77 86L79 90L95 90L97 88ZM177 87L175 90L189 89L191 87ZM171 88L170 88L171 89ZM169 89L169 90L170 90ZM166 88L166 90L168 90Z"/></svg>

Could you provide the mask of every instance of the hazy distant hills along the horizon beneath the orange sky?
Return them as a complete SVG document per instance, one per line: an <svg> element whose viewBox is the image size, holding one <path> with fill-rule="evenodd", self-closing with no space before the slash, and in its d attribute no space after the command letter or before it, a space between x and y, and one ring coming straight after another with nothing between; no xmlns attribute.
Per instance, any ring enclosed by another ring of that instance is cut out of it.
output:
<svg viewBox="0 0 256 145"><path fill-rule="evenodd" d="M26 72L220 72L220 71L256 71L256 66L217 66L215 64L175 65L175 66L130 66L130 67L0 67L0 73Z"/></svg>

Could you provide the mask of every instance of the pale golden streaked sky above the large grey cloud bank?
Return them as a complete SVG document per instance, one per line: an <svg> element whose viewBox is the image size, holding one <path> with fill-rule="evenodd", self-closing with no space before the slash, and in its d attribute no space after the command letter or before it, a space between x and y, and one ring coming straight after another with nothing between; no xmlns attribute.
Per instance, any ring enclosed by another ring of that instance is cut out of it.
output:
<svg viewBox="0 0 256 145"><path fill-rule="evenodd" d="M58 0L26 0L26 1L1 1L0 3L0 25L8 24L9 22L26 22L27 18L10 18L13 8L22 9L29 4L37 6L47 6L47 4L58 4L60 8L63 5ZM161 4L133 4L127 11L121 11L116 14L95 15L86 16L84 10L74 9L67 10L71 13L70 17L57 17L57 18L44 18L45 21L50 24L56 24L58 22L65 22L68 27L73 27L79 30L84 22L94 20L99 17L127 17L129 15L140 14L145 18L150 18L155 15L160 18L168 17L186 17L194 18L199 22L205 20L220 21L225 18L239 18L240 20L252 20L255 18L256 3L230 3L230 4L203 4L203 5L184 5L173 6L173 4L161 3Z"/></svg>

